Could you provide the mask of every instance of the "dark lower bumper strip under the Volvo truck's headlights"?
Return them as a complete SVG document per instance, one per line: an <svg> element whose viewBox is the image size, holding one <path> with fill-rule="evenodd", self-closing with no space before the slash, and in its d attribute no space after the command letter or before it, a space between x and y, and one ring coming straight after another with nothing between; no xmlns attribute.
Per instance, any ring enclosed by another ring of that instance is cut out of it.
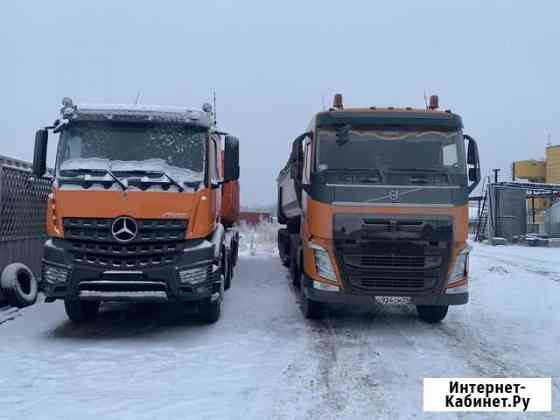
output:
<svg viewBox="0 0 560 420"><path fill-rule="evenodd" d="M313 288L313 280L304 275L303 280L305 296L317 302L324 303L341 303L350 305L363 305L375 302L375 295L370 294L352 294L344 290L325 291ZM385 295L379 295L385 296ZM409 297L410 303L414 305L464 305L469 300L469 293L456 293L456 294L422 294L422 295L398 295L401 297Z"/></svg>

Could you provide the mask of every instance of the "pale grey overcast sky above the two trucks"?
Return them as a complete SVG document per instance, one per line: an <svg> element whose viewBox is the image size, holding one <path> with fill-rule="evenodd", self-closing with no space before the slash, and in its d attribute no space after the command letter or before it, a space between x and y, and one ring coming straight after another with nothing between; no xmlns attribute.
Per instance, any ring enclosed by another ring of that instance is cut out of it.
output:
<svg viewBox="0 0 560 420"><path fill-rule="evenodd" d="M560 143L559 16L558 1L5 1L0 154L31 159L63 96L199 107L216 89L243 204L269 204L333 93L423 106L427 92L463 116L485 173L509 173L544 156L547 132Z"/></svg>

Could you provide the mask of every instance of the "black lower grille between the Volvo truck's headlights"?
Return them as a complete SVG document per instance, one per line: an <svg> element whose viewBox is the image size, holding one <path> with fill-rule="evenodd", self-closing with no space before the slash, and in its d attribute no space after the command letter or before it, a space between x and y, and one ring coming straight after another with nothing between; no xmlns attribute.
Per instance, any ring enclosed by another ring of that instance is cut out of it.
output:
<svg viewBox="0 0 560 420"><path fill-rule="evenodd" d="M340 240L335 247L352 292L422 292L440 278L443 256L422 245Z"/></svg>

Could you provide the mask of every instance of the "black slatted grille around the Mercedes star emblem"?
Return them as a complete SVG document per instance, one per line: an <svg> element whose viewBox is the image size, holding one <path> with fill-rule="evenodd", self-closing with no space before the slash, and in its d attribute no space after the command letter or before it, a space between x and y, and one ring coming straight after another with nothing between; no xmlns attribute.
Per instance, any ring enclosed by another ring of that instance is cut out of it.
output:
<svg viewBox="0 0 560 420"><path fill-rule="evenodd" d="M187 223L138 219L138 233L127 243L111 233L113 219L65 218L64 236L76 263L130 269L172 264L183 250Z"/></svg>

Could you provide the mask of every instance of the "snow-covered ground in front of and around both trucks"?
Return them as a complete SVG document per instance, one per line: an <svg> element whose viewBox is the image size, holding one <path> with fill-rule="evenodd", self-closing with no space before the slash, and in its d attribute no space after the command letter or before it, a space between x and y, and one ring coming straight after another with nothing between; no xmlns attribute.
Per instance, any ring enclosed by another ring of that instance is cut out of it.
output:
<svg viewBox="0 0 560 420"><path fill-rule="evenodd" d="M118 305L79 327L61 303L3 311L0 419L442 418L422 412L422 378L448 376L552 376L553 413L508 418L553 418L560 250L477 245L471 272L471 302L436 326L405 306L305 321L269 255L240 260L211 326Z"/></svg>

